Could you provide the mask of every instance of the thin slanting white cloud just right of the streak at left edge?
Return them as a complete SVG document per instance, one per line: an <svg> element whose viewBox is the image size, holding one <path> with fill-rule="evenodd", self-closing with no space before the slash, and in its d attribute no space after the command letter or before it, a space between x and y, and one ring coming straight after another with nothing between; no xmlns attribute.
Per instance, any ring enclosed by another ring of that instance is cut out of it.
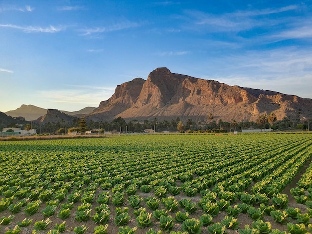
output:
<svg viewBox="0 0 312 234"><path fill-rule="evenodd" d="M140 24L137 22L131 22L129 20L125 20L120 23L116 23L116 24L106 26L106 27L85 28L85 29L81 29L80 31L82 32L83 36L87 36L93 33L119 31L119 30L124 30L128 28L139 27L139 26Z"/></svg>

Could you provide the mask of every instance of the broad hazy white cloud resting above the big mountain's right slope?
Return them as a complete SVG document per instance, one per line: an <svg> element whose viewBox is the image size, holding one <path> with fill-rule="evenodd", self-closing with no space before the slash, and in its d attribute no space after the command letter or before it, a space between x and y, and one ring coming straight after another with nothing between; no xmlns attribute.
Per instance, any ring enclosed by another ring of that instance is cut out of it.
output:
<svg viewBox="0 0 312 234"><path fill-rule="evenodd" d="M209 61L205 68L210 72L209 76L201 76L205 79L311 98L311 49L249 51Z"/></svg>

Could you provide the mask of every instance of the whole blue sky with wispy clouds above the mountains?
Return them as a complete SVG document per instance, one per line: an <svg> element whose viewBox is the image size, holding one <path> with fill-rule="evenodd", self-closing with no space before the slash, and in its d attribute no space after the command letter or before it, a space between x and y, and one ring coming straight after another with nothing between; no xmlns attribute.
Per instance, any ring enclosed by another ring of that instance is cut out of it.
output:
<svg viewBox="0 0 312 234"><path fill-rule="evenodd" d="M157 67L312 98L312 1L0 0L1 112L98 107Z"/></svg>

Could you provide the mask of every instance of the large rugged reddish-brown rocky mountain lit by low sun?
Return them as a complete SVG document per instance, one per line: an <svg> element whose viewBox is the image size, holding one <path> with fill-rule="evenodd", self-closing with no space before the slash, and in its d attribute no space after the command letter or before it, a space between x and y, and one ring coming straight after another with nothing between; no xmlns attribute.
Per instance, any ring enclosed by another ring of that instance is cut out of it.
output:
<svg viewBox="0 0 312 234"><path fill-rule="evenodd" d="M279 92L229 86L171 73L157 68L147 80L136 78L117 86L113 96L100 103L87 119L94 121L145 119L255 121L262 113L274 112L277 119L312 116L312 99Z"/></svg>

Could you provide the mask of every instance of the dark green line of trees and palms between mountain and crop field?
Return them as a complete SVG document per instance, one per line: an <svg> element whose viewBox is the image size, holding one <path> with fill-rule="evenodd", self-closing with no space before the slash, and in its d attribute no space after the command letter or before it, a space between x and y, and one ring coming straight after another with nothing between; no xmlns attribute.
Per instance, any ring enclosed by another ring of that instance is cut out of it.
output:
<svg viewBox="0 0 312 234"><path fill-rule="evenodd" d="M12 124L10 124L12 126ZM233 119L230 122L222 119L215 120L213 114L209 114L206 119L201 121L194 121L189 118L186 121L181 121L179 117L171 120L158 120L156 117L153 120L144 120L139 122L136 119L125 121L122 117L114 118L112 121L93 121L86 120L85 117L77 118L72 123L64 123L59 121L57 123L47 122L40 124L32 122L32 128L37 129L38 134L65 134L68 132L144 132L145 129L153 129L156 132L228 132L239 131L248 128L272 128L274 130L286 129L308 129L308 120L295 119L290 120L284 117L282 120L277 120L274 113L269 115L261 114L257 121L242 121L237 122ZM24 129L29 129L30 124L24 124Z"/></svg>

